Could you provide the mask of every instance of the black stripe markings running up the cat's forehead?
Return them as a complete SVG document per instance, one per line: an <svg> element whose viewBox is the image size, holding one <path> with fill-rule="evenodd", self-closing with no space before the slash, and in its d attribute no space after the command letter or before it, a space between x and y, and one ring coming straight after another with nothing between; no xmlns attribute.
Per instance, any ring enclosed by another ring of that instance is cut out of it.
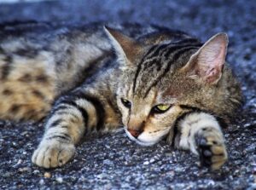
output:
<svg viewBox="0 0 256 190"><path fill-rule="evenodd" d="M163 78L170 71L176 60L189 50L199 49L201 45L202 43L195 38L186 38L174 43L154 45L148 49L147 54L143 56L143 59L137 66L137 72L133 81L133 94L136 93L137 89L143 91L143 96L146 97L150 89L160 81L160 78ZM139 89L137 79L145 74L147 76L150 75L150 71L152 70L153 72L154 69L157 70L154 80L148 83L146 89Z"/></svg>

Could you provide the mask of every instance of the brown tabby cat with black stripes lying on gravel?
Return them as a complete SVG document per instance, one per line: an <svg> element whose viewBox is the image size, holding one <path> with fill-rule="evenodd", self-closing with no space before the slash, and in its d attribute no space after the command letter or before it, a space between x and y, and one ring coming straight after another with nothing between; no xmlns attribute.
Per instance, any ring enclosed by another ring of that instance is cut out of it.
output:
<svg viewBox="0 0 256 190"><path fill-rule="evenodd" d="M84 135L121 126L131 141L165 139L212 170L226 162L218 118L235 115L241 88L225 33L201 43L161 26L16 23L0 39L0 117L46 117L32 163L62 166Z"/></svg>

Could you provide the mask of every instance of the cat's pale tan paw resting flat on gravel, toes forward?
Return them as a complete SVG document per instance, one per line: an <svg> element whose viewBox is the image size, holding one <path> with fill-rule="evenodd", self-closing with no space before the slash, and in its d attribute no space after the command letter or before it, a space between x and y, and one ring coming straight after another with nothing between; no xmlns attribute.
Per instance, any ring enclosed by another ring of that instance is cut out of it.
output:
<svg viewBox="0 0 256 190"><path fill-rule="evenodd" d="M32 163L44 168L55 168L73 158L75 147L72 143L42 141L32 155Z"/></svg>

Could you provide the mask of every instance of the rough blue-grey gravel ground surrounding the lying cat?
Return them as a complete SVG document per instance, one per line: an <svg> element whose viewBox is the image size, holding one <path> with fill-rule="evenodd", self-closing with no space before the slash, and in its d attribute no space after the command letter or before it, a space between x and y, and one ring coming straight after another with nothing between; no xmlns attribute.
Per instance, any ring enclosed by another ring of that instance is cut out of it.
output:
<svg viewBox="0 0 256 190"><path fill-rule="evenodd" d="M170 26L203 40L227 32L228 61L241 81L245 104L224 129L229 162L218 171L201 168L195 155L173 150L164 141L140 147L123 130L86 137L72 162L44 170L30 160L43 135L43 124L0 121L0 189L256 189L255 10L253 0L1 4L0 22L136 21Z"/></svg>

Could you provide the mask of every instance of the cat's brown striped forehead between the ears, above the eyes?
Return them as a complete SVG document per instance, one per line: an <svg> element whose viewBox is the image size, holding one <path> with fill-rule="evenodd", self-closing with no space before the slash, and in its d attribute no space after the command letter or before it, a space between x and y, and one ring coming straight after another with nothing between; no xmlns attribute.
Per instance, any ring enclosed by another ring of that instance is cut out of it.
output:
<svg viewBox="0 0 256 190"><path fill-rule="evenodd" d="M162 43L150 47L137 63L131 82L133 93L146 97L152 88L162 89L163 85L168 88L178 69L201 47L201 43L190 43L184 40L183 43Z"/></svg>

